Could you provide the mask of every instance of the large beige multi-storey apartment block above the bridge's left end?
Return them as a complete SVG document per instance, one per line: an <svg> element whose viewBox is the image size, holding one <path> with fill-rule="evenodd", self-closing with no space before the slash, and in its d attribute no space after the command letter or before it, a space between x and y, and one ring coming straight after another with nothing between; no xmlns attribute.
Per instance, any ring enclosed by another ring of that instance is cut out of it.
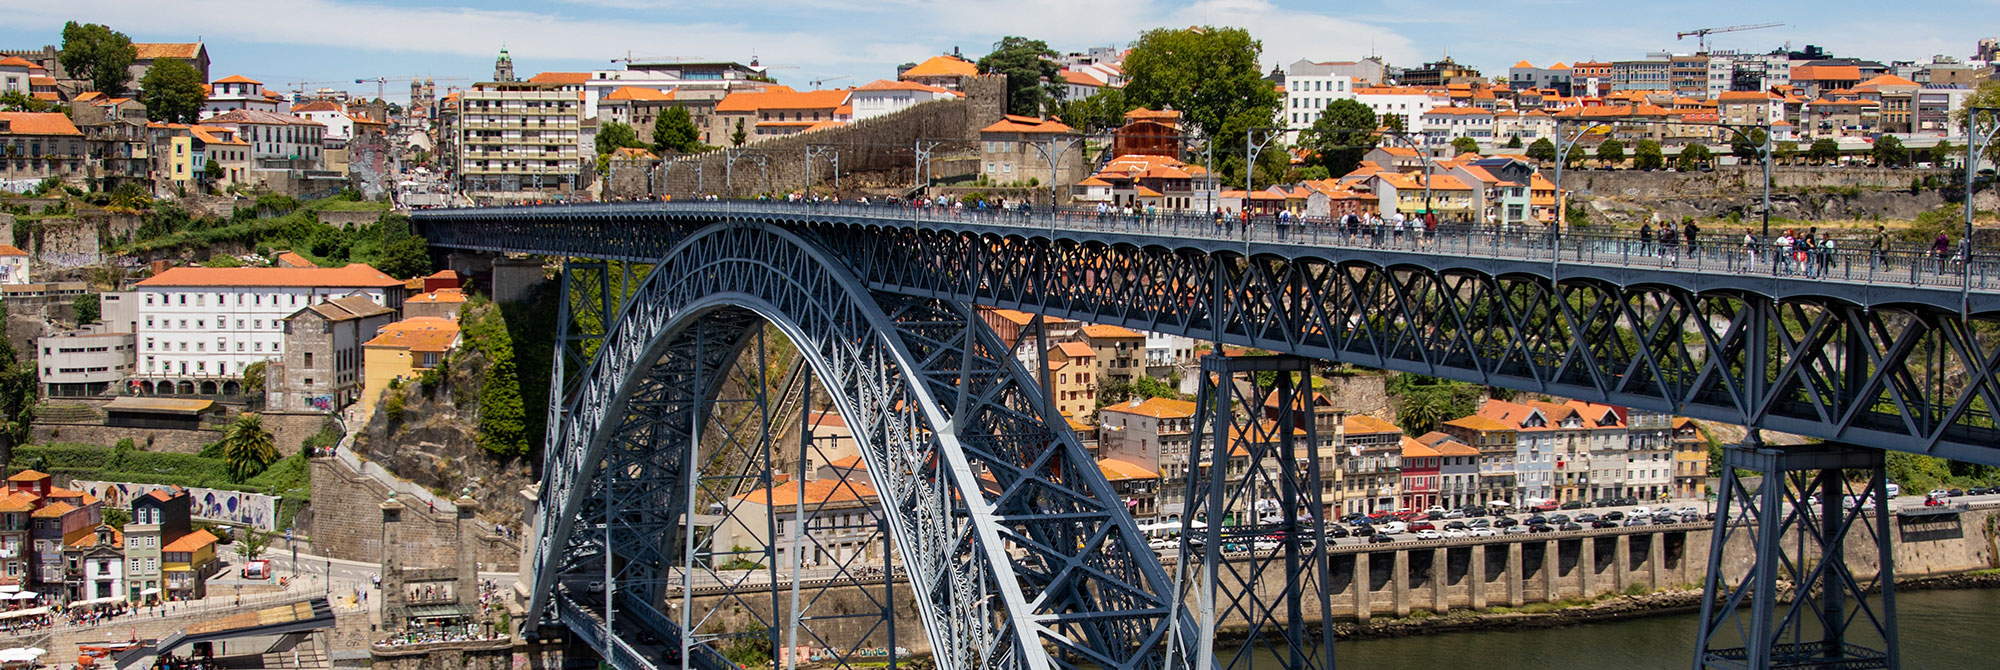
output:
<svg viewBox="0 0 2000 670"><path fill-rule="evenodd" d="M456 100L458 188L482 202L562 196L582 188L584 104L566 84L484 82Z"/></svg>

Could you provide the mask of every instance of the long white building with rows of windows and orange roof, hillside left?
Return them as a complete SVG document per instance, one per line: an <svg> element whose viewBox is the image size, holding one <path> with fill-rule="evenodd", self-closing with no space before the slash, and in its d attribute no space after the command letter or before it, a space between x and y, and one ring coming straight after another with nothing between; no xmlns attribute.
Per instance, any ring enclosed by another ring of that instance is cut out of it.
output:
<svg viewBox="0 0 2000 670"><path fill-rule="evenodd" d="M402 282L382 270L172 268L138 282L142 394L230 394L252 362L284 354L284 318L308 304L368 296L402 308Z"/></svg>

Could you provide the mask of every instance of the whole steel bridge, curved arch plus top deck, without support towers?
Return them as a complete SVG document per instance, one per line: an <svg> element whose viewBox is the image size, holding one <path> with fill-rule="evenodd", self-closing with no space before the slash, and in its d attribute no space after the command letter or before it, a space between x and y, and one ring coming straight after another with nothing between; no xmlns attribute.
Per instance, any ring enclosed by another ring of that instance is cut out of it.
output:
<svg viewBox="0 0 2000 670"><path fill-rule="evenodd" d="M662 538L692 496L694 418L762 320L812 352L866 436L950 668L1156 668L1192 658L1166 640L1196 634L1178 586L974 304L2000 464L2000 276L1974 264L1952 274L1900 258L1904 272L1806 280L1730 248L1660 268L1616 240L1378 248L1206 218L768 202L414 220L442 248L656 264L558 396L536 612L556 572L606 546L636 570L640 600L660 598L664 578L632 566L672 560ZM616 644L600 648L624 660Z"/></svg>

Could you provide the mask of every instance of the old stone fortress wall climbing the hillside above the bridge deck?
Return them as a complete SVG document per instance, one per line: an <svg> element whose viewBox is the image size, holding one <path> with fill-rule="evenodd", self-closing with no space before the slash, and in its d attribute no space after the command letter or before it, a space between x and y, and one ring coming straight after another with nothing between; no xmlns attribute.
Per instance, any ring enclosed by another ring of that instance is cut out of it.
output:
<svg viewBox="0 0 2000 670"><path fill-rule="evenodd" d="M628 180L622 174L626 170L620 168L620 176L612 180L606 198L650 196L662 188L660 184L674 198L688 198L696 192L750 196L758 192L804 190L808 182L830 184L830 156L814 158L808 170L806 148L816 144L840 148L844 188L850 184L912 184L916 140L956 140L960 148L970 148L972 140L978 140L980 128L1006 114L1004 78L980 76L968 82L964 92L964 100L924 102L896 114L860 120L842 128L744 144L736 152L718 150L686 156L682 162L670 160L664 166L664 178L658 174L648 176L646 184L650 190L636 190L638 180ZM944 158L944 152L950 148L942 146L934 158ZM764 156L762 170L752 156ZM732 162L734 168L730 166Z"/></svg>

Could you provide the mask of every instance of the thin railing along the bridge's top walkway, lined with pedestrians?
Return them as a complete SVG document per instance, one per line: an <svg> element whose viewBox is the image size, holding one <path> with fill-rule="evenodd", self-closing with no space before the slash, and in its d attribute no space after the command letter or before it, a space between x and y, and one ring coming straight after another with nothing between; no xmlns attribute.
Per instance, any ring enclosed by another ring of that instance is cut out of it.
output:
<svg viewBox="0 0 2000 670"><path fill-rule="evenodd" d="M548 204L578 206L578 204ZM1346 248L1402 252L1440 258L1498 258L1548 262L1560 272L1564 264L1654 268L1694 274L1762 274L1794 280L1824 280L1842 284L1934 286L2000 290L2000 254L1974 254L1970 262L1958 252L1938 254L1924 244L1892 242L1880 250L1856 248L1866 242L1836 238L1834 250L1780 250L1772 240L1744 244L1744 230L1702 234L1692 242L1664 244L1624 232L1562 232L1548 228L1496 228L1480 224L1440 224L1426 232L1418 222L1396 230L1386 222L1344 224L1328 218L1272 216L1216 218L1204 212L1096 212L1074 208L960 208L910 204L830 204L776 200L700 200L648 204L650 208L720 212L736 216L846 216L866 220L902 220L912 224L996 226L1024 234L1036 232L1102 232L1164 236L1180 240L1240 242L1294 248ZM538 206L546 208L546 206ZM588 208L588 206L584 206ZM500 212L516 208L496 208ZM522 212L530 212L520 208ZM1956 248L1956 244L1952 246Z"/></svg>

